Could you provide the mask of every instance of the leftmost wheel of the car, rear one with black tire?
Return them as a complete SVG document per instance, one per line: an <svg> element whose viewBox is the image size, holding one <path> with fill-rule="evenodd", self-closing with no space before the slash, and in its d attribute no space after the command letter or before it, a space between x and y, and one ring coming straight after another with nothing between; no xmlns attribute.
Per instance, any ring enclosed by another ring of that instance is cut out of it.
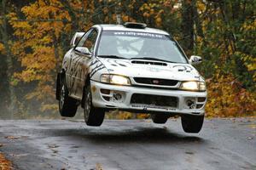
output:
<svg viewBox="0 0 256 170"><path fill-rule="evenodd" d="M73 117L78 110L77 100L68 96L65 77L60 78L59 111L61 116Z"/></svg>

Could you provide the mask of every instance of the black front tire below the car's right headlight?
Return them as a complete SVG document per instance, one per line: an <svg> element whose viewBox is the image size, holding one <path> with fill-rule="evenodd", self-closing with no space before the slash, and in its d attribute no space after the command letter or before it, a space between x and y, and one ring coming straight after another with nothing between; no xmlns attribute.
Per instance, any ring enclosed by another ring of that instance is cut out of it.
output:
<svg viewBox="0 0 256 170"><path fill-rule="evenodd" d="M199 133L204 122L204 116L185 115L181 117L183 131L186 133Z"/></svg>

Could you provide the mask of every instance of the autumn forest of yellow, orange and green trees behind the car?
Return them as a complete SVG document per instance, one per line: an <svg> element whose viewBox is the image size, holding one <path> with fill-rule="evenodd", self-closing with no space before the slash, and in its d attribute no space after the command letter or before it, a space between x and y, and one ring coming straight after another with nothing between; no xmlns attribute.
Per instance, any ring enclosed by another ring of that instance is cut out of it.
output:
<svg viewBox="0 0 256 170"><path fill-rule="evenodd" d="M144 22L166 30L188 56L202 56L197 69L207 78L207 116L255 115L255 1L34 0L9 1L5 8L9 40L0 41L0 56L15 66L12 77L5 77L16 92L29 87L15 101L18 114L30 112L27 102L55 113L55 76L73 33L94 24L116 24L120 16L122 23Z"/></svg>

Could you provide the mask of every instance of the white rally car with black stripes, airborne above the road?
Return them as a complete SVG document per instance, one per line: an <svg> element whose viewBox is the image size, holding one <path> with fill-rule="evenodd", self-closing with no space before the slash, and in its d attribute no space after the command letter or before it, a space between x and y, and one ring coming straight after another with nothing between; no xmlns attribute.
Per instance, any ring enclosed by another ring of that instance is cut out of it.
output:
<svg viewBox="0 0 256 170"><path fill-rule="evenodd" d="M145 24L96 25L77 32L57 76L56 99L61 116L84 108L87 125L100 126L105 111L149 113L155 123L180 115L183 130L201 130L207 88L166 32Z"/></svg>

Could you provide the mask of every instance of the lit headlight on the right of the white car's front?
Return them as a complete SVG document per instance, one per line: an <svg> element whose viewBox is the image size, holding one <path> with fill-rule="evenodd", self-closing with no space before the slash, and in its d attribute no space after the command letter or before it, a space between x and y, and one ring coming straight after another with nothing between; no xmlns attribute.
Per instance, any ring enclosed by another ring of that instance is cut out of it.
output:
<svg viewBox="0 0 256 170"><path fill-rule="evenodd" d="M182 82L180 89L191 91L206 91L206 82Z"/></svg>

